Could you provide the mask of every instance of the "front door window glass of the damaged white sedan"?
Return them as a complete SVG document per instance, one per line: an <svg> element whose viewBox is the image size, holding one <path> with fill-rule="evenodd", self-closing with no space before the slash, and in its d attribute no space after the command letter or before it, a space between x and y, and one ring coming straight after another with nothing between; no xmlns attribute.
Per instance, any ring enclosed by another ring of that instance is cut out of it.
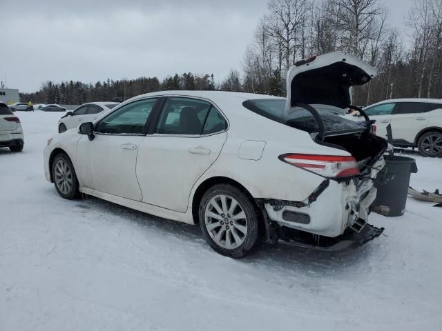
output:
<svg viewBox="0 0 442 331"><path fill-rule="evenodd" d="M156 101L155 98L128 103L99 121L95 131L107 134L142 134Z"/></svg>

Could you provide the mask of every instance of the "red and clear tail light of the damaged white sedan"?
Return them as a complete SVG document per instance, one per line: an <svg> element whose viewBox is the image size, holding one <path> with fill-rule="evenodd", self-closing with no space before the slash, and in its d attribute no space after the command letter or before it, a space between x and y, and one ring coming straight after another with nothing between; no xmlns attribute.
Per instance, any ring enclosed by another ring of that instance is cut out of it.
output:
<svg viewBox="0 0 442 331"><path fill-rule="evenodd" d="M354 157L316 154L283 154L279 159L323 177L342 178L361 174Z"/></svg>

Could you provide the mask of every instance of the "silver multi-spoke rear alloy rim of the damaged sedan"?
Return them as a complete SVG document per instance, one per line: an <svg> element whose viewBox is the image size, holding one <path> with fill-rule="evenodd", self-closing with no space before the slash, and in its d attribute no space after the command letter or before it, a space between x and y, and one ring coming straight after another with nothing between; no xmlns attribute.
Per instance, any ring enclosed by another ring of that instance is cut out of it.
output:
<svg viewBox="0 0 442 331"><path fill-rule="evenodd" d="M240 203L226 194L215 195L206 205L206 230L217 245L238 248L247 236L247 217Z"/></svg>

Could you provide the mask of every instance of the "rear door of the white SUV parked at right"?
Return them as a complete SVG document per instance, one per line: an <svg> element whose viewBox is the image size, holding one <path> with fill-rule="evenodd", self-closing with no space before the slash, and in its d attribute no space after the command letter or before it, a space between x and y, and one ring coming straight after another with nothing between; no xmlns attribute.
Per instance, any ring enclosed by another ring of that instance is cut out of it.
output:
<svg viewBox="0 0 442 331"><path fill-rule="evenodd" d="M396 143L414 143L421 130L425 129L430 119L427 103L399 102L392 115L392 135Z"/></svg>

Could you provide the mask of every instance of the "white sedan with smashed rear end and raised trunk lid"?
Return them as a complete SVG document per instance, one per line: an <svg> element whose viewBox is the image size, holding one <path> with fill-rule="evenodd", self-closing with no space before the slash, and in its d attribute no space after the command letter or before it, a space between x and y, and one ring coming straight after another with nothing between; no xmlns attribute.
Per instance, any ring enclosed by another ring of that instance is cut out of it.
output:
<svg viewBox="0 0 442 331"><path fill-rule="evenodd" d="M287 99L218 91L143 94L48 140L46 179L160 217L198 224L242 257L260 241L343 248L369 225L385 139L333 111L376 71L344 52L296 63ZM314 235L312 235L314 234Z"/></svg>

